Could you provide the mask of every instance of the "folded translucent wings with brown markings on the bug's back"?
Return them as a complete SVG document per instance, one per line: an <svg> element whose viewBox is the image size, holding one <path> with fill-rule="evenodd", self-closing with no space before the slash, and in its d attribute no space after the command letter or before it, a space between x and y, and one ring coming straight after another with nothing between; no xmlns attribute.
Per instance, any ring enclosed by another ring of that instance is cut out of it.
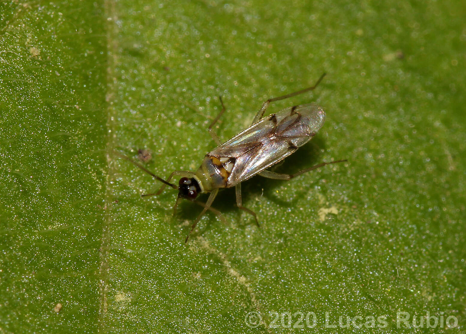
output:
<svg viewBox="0 0 466 334"><path fill-rule="evenodd" d="M235 158L227 181L227 187L232 187L295 152L324 121L325 112L313 103L288 107L263 118L207 155Z"/></svg>

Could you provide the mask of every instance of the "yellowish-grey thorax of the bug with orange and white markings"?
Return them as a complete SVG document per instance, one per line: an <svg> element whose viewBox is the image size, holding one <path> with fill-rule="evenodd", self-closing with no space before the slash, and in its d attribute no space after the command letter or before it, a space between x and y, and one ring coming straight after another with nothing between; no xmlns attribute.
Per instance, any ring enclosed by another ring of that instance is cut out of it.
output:
<svg viewBox="0 0 466 334"><path fill-rule="evenodd" d="M236 159L233 157L216 157L206 155L201 166L196 172L196 176L202 183L204 192L212 191L216 188L226 188Z"/></svg>

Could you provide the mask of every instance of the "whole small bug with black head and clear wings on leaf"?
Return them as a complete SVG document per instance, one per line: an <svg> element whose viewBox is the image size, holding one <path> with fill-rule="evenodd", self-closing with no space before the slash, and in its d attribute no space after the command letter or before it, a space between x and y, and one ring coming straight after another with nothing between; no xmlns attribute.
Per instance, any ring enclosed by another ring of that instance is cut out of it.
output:
<svg viewBox="0 0 466 334"><path fill-rule="evenodd" d="M176 214L176 208L180 199L192 200L204 207L197 219L192 223L191 230L186 236L185 242L188 241L190 234L207 210L221 215L218 210L211 207L215 196L217 196L221 188L235 187L236 205L240 210L251 214L259 225L254 211L242 205L241 182L256 174L270 179L290 180L316 168L347 161L337 160L322 162L295 174L278 174L267 170L268 167L285 159L288 155L294 153L298 147L301 147L311 140L325 121L325 112L322 107L314 103L288 107L276 114L263 117L267 107L271 102L287 99L314 90L324 76L325 73L322 74L312 87L265 101L254 117L252 125L223 144L219 140L217 134L213 132L213 126L226 110L220 96L219 100L222 105L222 110L209 126L209 134L211 134L212 139L217 143L218 147L206 154L199 169L195 172L174 171L164 180L136 161L118 152L115 153L163 183L157 193L145 194L142 196L161 194L166 186L170 186L178 190L178 197L173 206L173 214ZM170 183L170 180L175 175L181 176L178 186ZM201 193L210 193L206 203L195 200Z"/></svg>

